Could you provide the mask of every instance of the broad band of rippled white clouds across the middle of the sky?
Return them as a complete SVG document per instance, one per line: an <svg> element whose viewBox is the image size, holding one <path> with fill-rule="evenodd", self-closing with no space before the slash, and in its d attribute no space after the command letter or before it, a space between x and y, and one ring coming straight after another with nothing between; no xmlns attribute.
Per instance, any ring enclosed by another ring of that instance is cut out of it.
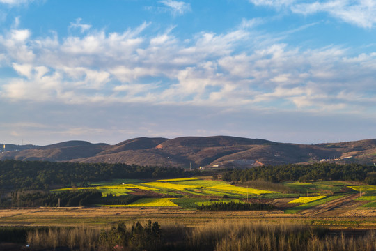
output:
<svg viewBox="0 0 376 251"><path fill-rule="evenodd" d="M301 50L247 25L197 33L187 42L173 29L143 35L149 25L60 39L56 33L34 39L29 30L6 31L0 36L3 58L19 77L2 81L1 96L67 104L376 109L368 97L375 53L350 56L336 46Z"/></svg>

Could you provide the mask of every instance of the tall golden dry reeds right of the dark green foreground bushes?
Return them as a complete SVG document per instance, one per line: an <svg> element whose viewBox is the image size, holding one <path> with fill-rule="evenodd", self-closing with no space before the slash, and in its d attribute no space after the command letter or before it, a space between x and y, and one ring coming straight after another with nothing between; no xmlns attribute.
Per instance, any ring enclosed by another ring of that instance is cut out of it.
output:
<svg viewBox="0 0 376 251"><path fill-rule="evenodd" d="M187 238L189 246L198 250L376 250L376 232L354 238L322 237L323 229L291 222L253 222L243 224L211 223L192 229Z"/></svg>

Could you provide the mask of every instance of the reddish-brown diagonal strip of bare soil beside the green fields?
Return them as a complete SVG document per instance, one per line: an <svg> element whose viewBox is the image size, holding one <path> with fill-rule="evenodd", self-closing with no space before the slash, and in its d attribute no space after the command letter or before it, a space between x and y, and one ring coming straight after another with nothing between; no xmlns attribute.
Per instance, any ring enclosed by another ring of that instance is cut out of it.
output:
<svg viewBox="0 0 376 251"><path fill-rule="evenodd" d="M306 215L306 216L321 215L323 213L326 213L327 211L334 210L335 208L338 208L340 206L347 206L348 204L356 204L356 202L354 202L354 199L357 199L357 197L359 196L360 196L359 194L354 194L354 195L349 195L349 196L342 197L339 199L335 199L325 204L314 206L313 208L308 208L304 211L301 211L299 215Z"/></svg>

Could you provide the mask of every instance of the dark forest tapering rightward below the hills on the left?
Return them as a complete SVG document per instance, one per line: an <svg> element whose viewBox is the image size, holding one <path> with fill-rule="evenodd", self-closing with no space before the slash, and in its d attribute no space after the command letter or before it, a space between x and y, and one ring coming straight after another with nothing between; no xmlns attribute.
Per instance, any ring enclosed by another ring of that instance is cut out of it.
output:
<svg viewBox="0 0 376 251"><path fill-rule="evenodd" d="M88 185L113 178L180 178L196 174L178 167L123 163L0 161L0 190L49 190L50 185Z"/></svg>

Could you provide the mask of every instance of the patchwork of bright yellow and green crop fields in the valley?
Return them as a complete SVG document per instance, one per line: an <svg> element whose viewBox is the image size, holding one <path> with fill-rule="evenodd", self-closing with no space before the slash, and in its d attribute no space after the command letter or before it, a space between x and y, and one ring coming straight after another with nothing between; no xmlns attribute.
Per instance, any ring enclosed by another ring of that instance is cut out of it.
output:
<svg viewBox="0 0 376 251"><path fill-rule="evenodd" d="M215 201L245 201L249 199L274 199L292 198L290 203L301 204L285 210L285 213L298 213L306 208L312 208L320 204L325 204L331 200L338 199L345 194L357 193L358 190L366 192L363 197L357 201L369 201L363 204L362 208L375 207L376 189L374 185L352 185L345 181L318 181L312 183L285 182L280 183L279 187L270 183L271 187L279 188L279 191L267 190L268 185L263 183L262 189L245 186L231 185L224 181L213 181L202 178L173 178L157 181L141 181L135 179L115 179L112 181L102 181L93 183L88 187L79 188L61 188L52 190L52 192L75 190L97 190L102 192L102 196L112 195L122 200L111 203L104 200L98 203L100 206L111 207L172 207L178 206L185 209L194 209L196 206L209 205ZM283 185L288 189L284 189ZM354 191L351 192L350 188ZM344 190L345 189L345 190ZM296 193L291 193L291 192ZM308 191L308 197L306 195ZM127 202L130 196L135 197L136 201ZM303 196L302 196L303 195ZM141 197L141 199L139 199ZM225 199L228 198L228 199ZM361 204L359 204L361 206Z"/></svg>

